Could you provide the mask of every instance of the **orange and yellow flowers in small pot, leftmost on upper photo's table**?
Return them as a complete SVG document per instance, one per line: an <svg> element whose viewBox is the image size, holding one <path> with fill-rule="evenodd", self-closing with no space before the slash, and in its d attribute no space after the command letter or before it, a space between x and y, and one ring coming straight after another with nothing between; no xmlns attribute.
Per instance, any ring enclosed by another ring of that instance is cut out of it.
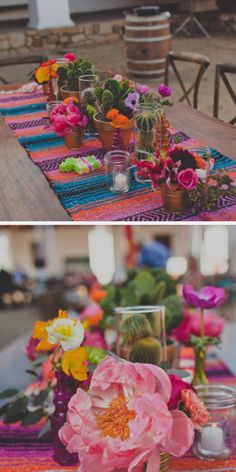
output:
<svg viewBox="0 0 236 472"><path fill-rule="evenodd" d="M55 90L53 79L58 78L58 64L56 60L43 62L35 71L35 80L43 86L43 92L48 97L48 101L55 100Z"/></svg>

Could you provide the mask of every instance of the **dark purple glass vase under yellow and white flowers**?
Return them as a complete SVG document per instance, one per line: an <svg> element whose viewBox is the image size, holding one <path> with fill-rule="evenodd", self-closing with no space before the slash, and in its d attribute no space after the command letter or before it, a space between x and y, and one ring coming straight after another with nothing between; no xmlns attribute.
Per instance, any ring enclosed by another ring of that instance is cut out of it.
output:
<svg viewBox="0 0 236 472"><path fill-rule="evenodd" d="M78 463L78 454L71 454L60 441L58 432L66 422L68 403L78 386L61 370L56 372L57 385L54 391L55 410L51 416L51 431L53 439L53 459L60 465L75 465Z"/></svg>

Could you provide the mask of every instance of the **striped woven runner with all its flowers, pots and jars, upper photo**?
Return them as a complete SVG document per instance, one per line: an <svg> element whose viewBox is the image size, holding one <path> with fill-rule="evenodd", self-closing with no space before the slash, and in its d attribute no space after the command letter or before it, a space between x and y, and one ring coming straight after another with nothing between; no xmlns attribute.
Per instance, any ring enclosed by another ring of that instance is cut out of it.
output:
<svg viewBox="0 0 236 472"><path fill-rule="evenodd" d="M70 53L35 80L2 91L0 113L71 220L235 219L235 161L172 125L169 87Z"/></svg>

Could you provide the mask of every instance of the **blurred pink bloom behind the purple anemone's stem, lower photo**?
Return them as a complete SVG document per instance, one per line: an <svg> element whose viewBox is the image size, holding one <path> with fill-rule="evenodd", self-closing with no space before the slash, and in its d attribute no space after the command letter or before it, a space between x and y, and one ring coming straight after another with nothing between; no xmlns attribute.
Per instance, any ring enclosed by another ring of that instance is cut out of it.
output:
<svg viewBox="0 0 236 472"><path fill-rule="evenodd" d="M183 320L177 328L172 330L172 336L174 336L180 343L188 344L191 335L200 336L200 320L200 311L190 313L189 311L185 310ZM224 318L216 315L215 313L211 311L204 313L205 336L220 336L224 329L224 324Z"/></svg>

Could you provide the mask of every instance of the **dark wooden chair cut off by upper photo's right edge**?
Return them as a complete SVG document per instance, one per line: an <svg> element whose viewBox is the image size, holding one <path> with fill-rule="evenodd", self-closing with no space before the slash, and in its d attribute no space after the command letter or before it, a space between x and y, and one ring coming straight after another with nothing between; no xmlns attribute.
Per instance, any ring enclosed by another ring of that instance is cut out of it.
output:
<svg viewBox="0 0 236 472"><path fill-rule="evenodd" d="M221 79L225 84L227 91L229 92L230 97L232 98L234 105L236 105L236 94L233 90L232 85L229 82L226 74L236 74L236 64L217 64L216 65L216 74L215 74L215 93L214 93L214 116L215 118L219 117L219 103L220 103L220 83ZM234 125L236 123L236 116L230 120L230 124Z"/></svg>

